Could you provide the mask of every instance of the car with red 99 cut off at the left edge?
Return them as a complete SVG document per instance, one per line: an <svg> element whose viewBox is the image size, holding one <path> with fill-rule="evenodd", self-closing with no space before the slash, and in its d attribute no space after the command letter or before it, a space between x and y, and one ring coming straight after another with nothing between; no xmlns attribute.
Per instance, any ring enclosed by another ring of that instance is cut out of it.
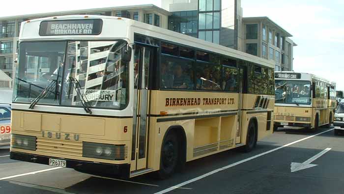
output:
<svg viewBox="0 0 344 194"><path fill-rule="evenodd" d="M0 147L11 141L11 105L0 104Z"/></svg>

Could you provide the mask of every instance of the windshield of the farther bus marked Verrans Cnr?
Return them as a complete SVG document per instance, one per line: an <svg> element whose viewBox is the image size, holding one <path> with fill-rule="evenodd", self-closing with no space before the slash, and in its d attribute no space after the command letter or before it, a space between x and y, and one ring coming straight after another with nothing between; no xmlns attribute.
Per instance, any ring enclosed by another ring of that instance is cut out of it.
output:
<svg viewBox="0 0 344 194"><path fill-rule="evenodd" d="M310 105L311 82L275 80L275 103Z"/></svg>

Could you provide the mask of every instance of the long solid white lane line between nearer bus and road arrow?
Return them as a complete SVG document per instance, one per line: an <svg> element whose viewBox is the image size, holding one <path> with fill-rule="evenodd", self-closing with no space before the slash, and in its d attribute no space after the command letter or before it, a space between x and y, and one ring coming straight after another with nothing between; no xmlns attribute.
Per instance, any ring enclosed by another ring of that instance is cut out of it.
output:
<svg viewBox="0 0 344 194"><path fill-rule="evenodd" d="M256 158L258 158L258 157L260 157L260 156L264 156L264 155L266 155L266 154L269 154L269 153L271 153L271 152L280 150L280 149L282 149L282 148L284 148L284 147L290 146L290 145L295 144L295 143L298 143L298 142L300 142L300 141L303 141L303 140L306 140L306 139L310 139L310 138L314 138L315 136L318 136L318 135L327 133L327 132L332 131L332 130L333 130L333 128L332 128L332 129L329 129L329 130L327 130L327 131L323 131L323 132L321 132L321 133L318 133L318 134L309 136L309 137L307 137L307 138L303 138L303 139L299 139L299 140L293 141L293 142L291 142L291 143L287 143L287 144L282 145L282 146L280 146L280 147L277 147L277 148L275 148L275 149L272 149L272 150L263 152L263 153L261 153L261 154L252 156L252 157L250 157L250 158L247 158L247 159L241 160L241 161L239 161L239 162L230 164L230 165L228 165L228 166L223 166L223 167L221 167L221 168L215 169L215 170L213 170L213 171L210 171L210 172L208 172L208 173L205 173L205 174L203 174L203 175L201 175L201 176L198 176L198 177L196 177L196 178L193 178L193 179L191 179L191 180L182 182L182 183L180 183L180 184L178 184L178 185L175 185L175 186L172 186L172 187L170 187L170 188L167 188L167 189L165 189L165 190L163 190L163 191L157 192L157 193L155 193L155 194L165 194L165 193L170 192L170 191L172 191L172 190L175 190L175 189L177 189L177 188L183 187L184 185L190 184L190 183L192 183L192 182L198 181L198 180L200 180L200 179L202 179L202 178L205 178L205 177L207 177L207 176L210 176L210 175L212 175L212 174L215 174L215 173L217 173L217 172L220 172L220 171L222 171L222 170L228 169L228 168L233 167L233 166L240 165L240 164L245 163L245 162L247 162L247 161L256 159Z"/></svg>

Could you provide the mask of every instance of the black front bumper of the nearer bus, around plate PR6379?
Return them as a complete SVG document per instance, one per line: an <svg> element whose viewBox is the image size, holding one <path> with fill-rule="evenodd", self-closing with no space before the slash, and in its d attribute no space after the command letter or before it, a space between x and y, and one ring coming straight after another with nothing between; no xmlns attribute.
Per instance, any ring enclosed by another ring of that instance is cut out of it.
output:
<svg viewBox="0 0 344 194"><path fill-rule="evenodd" d="M67 168L74 168L77 171L95 175L112 175L118 178L128 179L130 176L130 164L105 164L93 163L71 159L61 159L47 156L40 156L27 153L10 152L10 159L24 162L49 165L49 159L59 159L66 161Z"/></svg>

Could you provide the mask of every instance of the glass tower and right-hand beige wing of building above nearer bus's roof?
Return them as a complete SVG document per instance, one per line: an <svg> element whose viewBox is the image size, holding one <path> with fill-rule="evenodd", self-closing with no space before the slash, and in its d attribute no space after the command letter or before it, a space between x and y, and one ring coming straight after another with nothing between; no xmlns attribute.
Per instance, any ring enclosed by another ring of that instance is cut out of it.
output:
<svg viewBox="0 0 344 194"><path fill-rule="evenodd" d="M243 18L241 0L162 0L168 28L275 61L277 71L293 69L292 35L268 17Z"/></svg>

